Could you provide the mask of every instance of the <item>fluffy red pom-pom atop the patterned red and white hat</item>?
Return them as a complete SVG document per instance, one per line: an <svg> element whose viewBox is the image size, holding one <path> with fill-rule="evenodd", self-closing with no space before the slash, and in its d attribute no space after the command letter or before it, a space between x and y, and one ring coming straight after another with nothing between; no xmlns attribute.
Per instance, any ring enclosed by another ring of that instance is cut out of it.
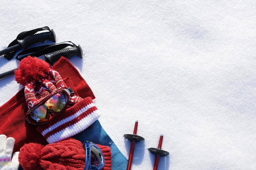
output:
<svg viewBox="0 0 256 170"><path fill-rule="evenodd" d="M25 86L28 82L38 81L45 77L49 71L49 64L36 57L28 56L20 61L18 70L15 70L15 80L18 84Z"/></svg>

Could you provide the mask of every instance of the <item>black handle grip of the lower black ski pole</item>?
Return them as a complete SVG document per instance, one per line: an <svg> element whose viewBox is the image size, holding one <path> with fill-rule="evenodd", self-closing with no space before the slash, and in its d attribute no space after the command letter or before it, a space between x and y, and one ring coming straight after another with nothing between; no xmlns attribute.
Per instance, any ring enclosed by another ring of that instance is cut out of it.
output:
<svg viewBox="0 0 256 170"><path fill-rule="evenodd" d="M58 61L61 56L65 58L71 58L72 56L79 56L82 58L83 56L83 51L80 45L77 47L67 47L63 48L61 50L57 50L55 52L52 52L50 54L44 55L45 59L47 60L48 63L53 65L56 61Z"/></svg>

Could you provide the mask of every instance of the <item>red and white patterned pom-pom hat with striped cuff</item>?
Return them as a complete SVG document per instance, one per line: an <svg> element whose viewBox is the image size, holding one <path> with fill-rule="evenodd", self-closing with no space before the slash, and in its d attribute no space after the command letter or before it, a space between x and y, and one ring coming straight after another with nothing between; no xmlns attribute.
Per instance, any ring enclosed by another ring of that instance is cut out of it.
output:
<svg viewBox="0 0 256 170"><path fill-rule="evenodd" d="M24 93L29 109L54 90L67 88L59 73L50 69L46 61L30 56L20 61L18 70L15 71L15 80L25 86ZM71 94L68 107L50 117L48 123L39 125L37 130L48 143L55 143L83 131L99 117L100 112L90 97L82 99Z"/></svg>

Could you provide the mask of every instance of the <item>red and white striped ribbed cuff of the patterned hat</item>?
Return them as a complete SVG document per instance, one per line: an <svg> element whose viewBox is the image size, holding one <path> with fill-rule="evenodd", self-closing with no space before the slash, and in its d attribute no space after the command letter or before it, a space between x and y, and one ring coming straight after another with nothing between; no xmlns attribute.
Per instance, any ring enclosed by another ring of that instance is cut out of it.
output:
<svg viewBox="0 0 256 170"><path fill-rule="evenodd" d="M91 97L50 118L49 123L39 125L39 131L48 143L56 143L80 133L100 117Z"/></svg>

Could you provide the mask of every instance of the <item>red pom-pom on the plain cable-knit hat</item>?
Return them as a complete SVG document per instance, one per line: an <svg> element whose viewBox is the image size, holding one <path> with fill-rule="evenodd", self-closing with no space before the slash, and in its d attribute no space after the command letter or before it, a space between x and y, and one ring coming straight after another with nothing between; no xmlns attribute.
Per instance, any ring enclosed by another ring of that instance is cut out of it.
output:
<svg viewBox="0 0 256 170"><path fill-rule="evenodd" d="M41 156L43 145L37 143L25 144L20 148L18 161L24 170L40 170L38 161Z"/></svg>

